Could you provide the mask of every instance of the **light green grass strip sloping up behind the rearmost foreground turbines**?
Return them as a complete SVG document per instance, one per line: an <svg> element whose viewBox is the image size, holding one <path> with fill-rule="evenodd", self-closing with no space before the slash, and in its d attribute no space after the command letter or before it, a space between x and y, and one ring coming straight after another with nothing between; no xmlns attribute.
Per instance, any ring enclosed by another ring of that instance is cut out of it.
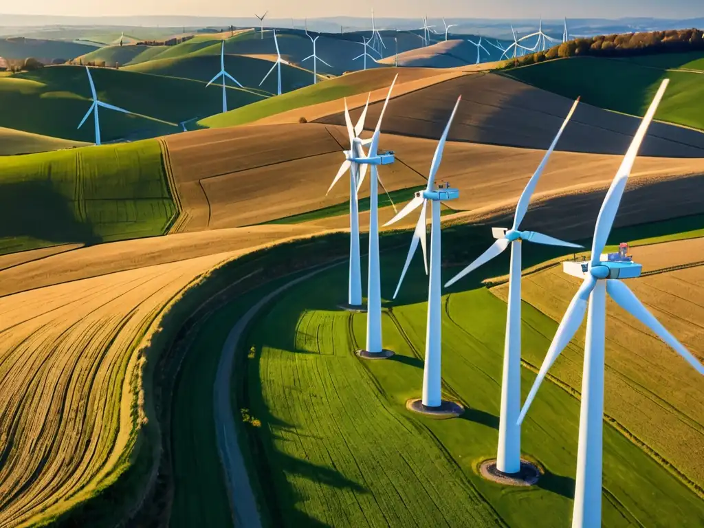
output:
<svg viewBox="0 0 704 528"><path fill-rule="evenodd" d="M294 108L327 103L327 101L335 101L342 97L370 92L383 88L387 84L387 80L379 76L367 79L365 72L351 73L297 89L295 92L289 92L242 108L236 108L224 114L213 115L210 118L200 120L198 124L206 128L243 125L244 123L267 118L270 115L293 110Z"/></svg>

